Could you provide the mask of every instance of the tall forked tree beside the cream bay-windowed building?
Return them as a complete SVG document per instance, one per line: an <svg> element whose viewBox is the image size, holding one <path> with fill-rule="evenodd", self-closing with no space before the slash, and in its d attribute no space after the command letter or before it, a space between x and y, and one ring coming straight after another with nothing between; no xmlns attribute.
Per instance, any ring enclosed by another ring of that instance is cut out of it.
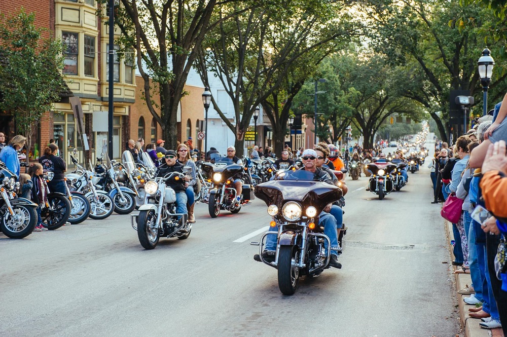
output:
<svg viewBox="0 0 507 337"><path fill-rule="evenodd" d="M128 48L136 50L137 69L144 81L143 98L169 148L176 148L178 104L185 95L198 46L219 22L210 22L211 14L228 2L238 1L120 0L121 6L115 7L115 24L122 32L117 39L120 55ZM107 0L99 2L105 5ZM154 94L159 94L160 101L153 100Z"/></svg>

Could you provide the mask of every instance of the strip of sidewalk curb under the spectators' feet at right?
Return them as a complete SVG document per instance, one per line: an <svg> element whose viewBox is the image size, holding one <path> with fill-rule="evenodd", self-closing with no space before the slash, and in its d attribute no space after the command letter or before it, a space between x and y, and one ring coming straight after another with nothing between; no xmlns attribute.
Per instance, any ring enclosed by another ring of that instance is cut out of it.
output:
<svg viewBox="0 0 507 337"><path fill-rule="evenodd" d="M451 246L451 240L454 240L454 236L452 234L452 223L445 221L445 229L448 239L447 242L449 244L449 250L451 251L451 260L454 260ZM470 279L469 274L451 274L451 276L455 277L456 291L463 289L467 284L472 284L472 280ZM461 295L456 293L456 298L458 299L461 328L465 332L465 337L504 337L501 328L491 330L481 328L479 326L479 323L481 322L480 319L468 316L468 308L474 307L463 302L463 297L468 296L469 295Z"/></svg>

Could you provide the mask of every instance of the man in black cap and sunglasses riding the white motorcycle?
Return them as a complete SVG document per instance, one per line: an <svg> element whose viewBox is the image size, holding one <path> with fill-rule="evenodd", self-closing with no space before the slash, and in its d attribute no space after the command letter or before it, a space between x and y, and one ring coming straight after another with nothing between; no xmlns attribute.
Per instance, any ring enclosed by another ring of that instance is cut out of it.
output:
<svg viewBox="0 0 507 337"><path fill-rule="evenodd" d="M164 156L164 164L160 165L157 169L157 177L163 177L171 172L179 172L183 173L184 165L177 162L177 154L174 150L167 150ZM176 192L176 205L177 212L179 214L187 214L187 194L185 190L187 189L189 182L188 177L185 179L180 179L175 182L167 181L167 186Z"/></svg>

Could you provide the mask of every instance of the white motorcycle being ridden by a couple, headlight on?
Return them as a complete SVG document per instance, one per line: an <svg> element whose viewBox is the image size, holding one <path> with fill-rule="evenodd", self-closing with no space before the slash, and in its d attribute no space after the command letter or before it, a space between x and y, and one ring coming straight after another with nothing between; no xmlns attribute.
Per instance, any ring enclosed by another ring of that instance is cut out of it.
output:
<svg viewBox="0 0 507 337"><path fill-rule="evenodd" d="M184 174L171 172L163 178L148 181L144 186L146 197L139 207L139 214L130 216L132 228L137 231L139 243L144 249L154 249L160 237L184 240L190 236L192 223L187 221L187 214L176 213L176 193L166 182L183 180L191 170L185 167Z"/></svg>

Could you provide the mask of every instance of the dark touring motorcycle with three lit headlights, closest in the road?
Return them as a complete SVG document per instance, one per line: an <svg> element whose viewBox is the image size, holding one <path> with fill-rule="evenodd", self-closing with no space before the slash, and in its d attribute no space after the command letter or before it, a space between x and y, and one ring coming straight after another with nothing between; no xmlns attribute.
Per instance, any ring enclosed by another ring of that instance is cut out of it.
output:
<svg viewBox="0 0 507 337"><path fill-rule="evenodd" d="M342 191L334 185L313 181L313 173L304 170L286 170L274 180L259 184L255 196L268 206L272 216L270 226L278 225L278 232L266 232L259 242L259 259L278 270L278 287L285 295L292 295L298 287L300 276L319 276L329 268L331 241L318 226L318 217L330 202L337 201ZM277 236L275 259L266 261L262 257L264 240L268 235ZM325 253L324 242L328 252ZM256 255L257 258L257 255Z"/></svg>

